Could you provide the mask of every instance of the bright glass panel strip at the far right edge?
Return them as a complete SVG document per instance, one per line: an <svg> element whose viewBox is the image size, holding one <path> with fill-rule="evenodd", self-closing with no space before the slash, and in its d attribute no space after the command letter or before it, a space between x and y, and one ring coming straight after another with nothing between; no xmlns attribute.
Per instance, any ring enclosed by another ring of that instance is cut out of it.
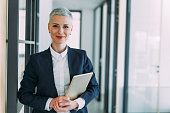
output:
<svg viewBox="0 0 170 113"><path fill-rule="evenodd" d="M159 111L170 112L170 0L162 0Z"/></svg>

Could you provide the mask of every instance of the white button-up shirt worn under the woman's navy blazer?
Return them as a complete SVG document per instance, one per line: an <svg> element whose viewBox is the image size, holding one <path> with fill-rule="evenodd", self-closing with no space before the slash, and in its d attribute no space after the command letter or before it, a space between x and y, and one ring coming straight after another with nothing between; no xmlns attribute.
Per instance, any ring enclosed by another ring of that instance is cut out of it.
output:
<svg viewBox="0 0 170 113"><path fill-rule="evenodd" d="M58 92L58 96L63 96L65 95L70 84L70 73L69 73L68 55L67 55L68 49L66 48L64 52L59 54L55 52L53 48L50 46L50 51L52 55L55 86ZM49 107L51 100L52 98L49 98L46 102L45 110L47 111L51 110ZM78 103L79 105L78 109L82 109L85 105L85 100L82 98L78 98L74 101Z"/></svg>

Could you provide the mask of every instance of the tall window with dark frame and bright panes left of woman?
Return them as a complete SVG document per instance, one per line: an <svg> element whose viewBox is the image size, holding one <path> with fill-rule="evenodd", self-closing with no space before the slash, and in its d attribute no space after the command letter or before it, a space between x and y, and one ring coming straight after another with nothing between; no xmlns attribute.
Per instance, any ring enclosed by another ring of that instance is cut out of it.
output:
<svg viewBox="0 0 170 113"><path fill-rule="evenodd" d="M38 13L39 0L8 1L7 113L31 112L16 93L30 55L38 50Z"/></svg>

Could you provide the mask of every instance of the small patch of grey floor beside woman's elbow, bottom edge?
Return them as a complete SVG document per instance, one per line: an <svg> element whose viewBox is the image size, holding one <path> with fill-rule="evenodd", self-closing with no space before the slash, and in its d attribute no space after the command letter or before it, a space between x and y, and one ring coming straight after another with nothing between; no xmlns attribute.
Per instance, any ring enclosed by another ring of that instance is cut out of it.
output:
<svg viewBox="0 0 170 113"><path fill-rule="evenodd" d="M103 103L98 102L96 99L87 105L89 113L104 113L103 107Z"/></svg>

